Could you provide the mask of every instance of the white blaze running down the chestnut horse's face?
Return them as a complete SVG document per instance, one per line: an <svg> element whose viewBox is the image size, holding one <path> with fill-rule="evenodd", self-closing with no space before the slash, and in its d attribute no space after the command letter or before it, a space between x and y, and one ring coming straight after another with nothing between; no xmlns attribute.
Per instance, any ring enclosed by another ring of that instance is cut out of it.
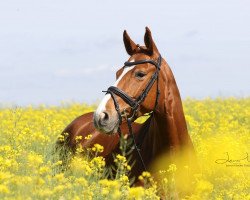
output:
<svg viewBox="0 0 250 200"><path fill-rule="evenodd" d="M131 60L130 62L133 62L134 60ZM135 65L133 66L130 66L130 67L126 67L122 74L119 76L119 78L116 80L116 82L114 83L113 86L117 87L119 82L122 80L122 78L130 71L132 70L133 68L135 67ZM102 99L101 103L99 104L98 108L96 109L95 111L95 114L96 115L100 115L103 111L106 110L106 104L108 102L108 100L111 98L111 95L110 94L106 94L104 96L104 98Z"/></svg>

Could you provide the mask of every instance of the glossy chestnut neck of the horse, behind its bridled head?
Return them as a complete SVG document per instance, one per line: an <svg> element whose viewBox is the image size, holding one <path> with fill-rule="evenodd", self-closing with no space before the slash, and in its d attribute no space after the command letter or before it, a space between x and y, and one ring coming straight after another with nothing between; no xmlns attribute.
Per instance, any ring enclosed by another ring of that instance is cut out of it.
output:
<svg viewBox="0 0 250 200"><path fill-rule="evenodd" d="M154 155L162 151L193 148L187 131L178 87L168 64L163 61L160 73L160 98L150 122L146 143ZM154 156L152 155L152 156Z"/></svg>

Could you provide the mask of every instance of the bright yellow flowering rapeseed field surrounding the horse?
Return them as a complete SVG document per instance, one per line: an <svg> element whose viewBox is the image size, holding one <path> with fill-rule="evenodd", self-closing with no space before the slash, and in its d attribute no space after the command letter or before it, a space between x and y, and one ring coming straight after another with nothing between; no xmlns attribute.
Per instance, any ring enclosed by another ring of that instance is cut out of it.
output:
<svg viewBox="0 0 250 200"><path fill-rule="evenodd" d="M175 190L174 164L159 172L168 174L161 183L143 172L145 187L130 187L131 166L118 154L108 180L104 158L79 156L97 155L103 151L98 144L79 148L62 171L56 140L64 139L60 133L74 118L96 108L72 103L0 108L0 199L160 199L159 188L165 199L250 199L250 98L186 99L183 105L200 167L185 196Z"/></svg>

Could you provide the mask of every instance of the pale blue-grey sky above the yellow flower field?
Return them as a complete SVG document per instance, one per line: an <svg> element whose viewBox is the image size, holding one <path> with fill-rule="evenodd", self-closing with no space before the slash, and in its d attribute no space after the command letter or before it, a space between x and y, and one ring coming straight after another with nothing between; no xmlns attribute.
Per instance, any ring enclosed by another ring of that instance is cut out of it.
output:
<svg viewBox="0 0 250 200"><path fill-rule="evenodd" d="M0 104L94 103L145 26L181 96L250 96L248 0L0 2Z"/></svg>

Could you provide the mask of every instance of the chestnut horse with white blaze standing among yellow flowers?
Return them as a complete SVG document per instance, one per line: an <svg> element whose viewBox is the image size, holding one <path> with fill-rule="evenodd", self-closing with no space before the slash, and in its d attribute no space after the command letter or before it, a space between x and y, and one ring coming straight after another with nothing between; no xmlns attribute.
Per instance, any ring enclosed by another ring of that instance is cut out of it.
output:
<svg viewBox="0 0 250 200"><path fill-rule="evenodd" d="M131 177L138 177L156 158L184 152L193 157L193 145L188 135L180 93L173 73L153 41L146 27L145 46L136 45L126 31L123 33L125 49L130 58L116 73L116 82L109 87L94 113L76 118L66 129L67 145L74 149L76 136L92 134L81 145L95 143L104 146L101 153L112 164L111 154L119 151L119 134L134 134L135 165ZM143 124L133 122L150 113ZM184 149L188 148L188 151ZM187 164L188 165L188 164Z"/></svg>

